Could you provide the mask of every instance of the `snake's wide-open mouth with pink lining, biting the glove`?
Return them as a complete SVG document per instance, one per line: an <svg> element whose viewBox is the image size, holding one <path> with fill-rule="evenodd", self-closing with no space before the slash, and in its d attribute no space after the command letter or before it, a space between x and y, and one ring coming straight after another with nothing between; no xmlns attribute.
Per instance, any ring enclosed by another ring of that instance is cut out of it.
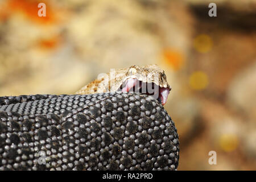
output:
<svg viewBox="0 0 256 182"><path fill-rule="evenodd" d="M137 92L147 94L161 102L162 105L166 104L168 95L170 93L169 88L160 87L154 82L139 81L137 78L127 79L120 86L119 90L122 90L122 92Z"/></svg>

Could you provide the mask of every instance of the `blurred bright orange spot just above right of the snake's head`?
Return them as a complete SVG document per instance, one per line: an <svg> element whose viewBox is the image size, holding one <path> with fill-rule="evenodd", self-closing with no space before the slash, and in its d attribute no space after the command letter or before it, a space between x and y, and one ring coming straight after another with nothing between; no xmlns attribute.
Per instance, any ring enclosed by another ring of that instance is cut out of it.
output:
<svg viewBox="0 0 256 182"><path fill-rule="evenodd" d="M183 54L173 49L165 49L163 51L164 60L170 64L174 70L179 70L183 65Z"/></svg>

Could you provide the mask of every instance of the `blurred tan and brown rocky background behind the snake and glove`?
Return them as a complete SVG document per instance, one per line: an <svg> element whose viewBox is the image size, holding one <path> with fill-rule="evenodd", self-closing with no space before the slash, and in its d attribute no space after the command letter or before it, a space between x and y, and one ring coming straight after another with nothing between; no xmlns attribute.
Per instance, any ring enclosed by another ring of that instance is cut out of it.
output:
<svg viewBox="0 0 256 182"><path fill-rule="evenodd" d="M0 96L73 94L110 68L158 64L179 170L256 170L255 50L255 0L0 1Z"/></svg>

